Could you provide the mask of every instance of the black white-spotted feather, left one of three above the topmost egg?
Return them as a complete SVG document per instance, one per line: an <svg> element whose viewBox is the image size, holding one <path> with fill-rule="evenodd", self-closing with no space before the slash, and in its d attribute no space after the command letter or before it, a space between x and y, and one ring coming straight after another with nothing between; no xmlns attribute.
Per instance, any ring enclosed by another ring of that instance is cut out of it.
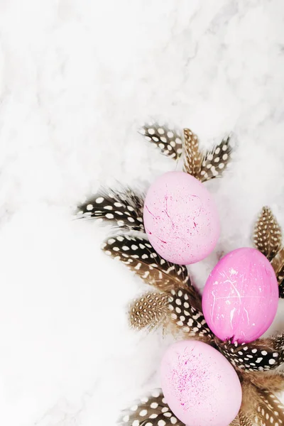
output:
<svg viewBox="0 0 284 426"><path fill-rule="evenodd" d="M145 124L139 131L146 141L158 148L160 153L167 157L178 160L182 155L182 136L180 131L170 129L168 126Z"/></svg>

